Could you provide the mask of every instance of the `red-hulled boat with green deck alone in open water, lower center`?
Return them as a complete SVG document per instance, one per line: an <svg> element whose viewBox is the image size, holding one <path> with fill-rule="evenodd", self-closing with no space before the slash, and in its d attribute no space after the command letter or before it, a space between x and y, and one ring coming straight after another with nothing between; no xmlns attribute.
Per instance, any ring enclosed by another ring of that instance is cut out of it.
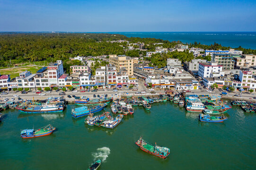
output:
<svg viewBox="0 0 256 170"><path fill-rule="evenodd" d="M169 148L158 146L157 143L155 143L155 145L150 144L143 140L142 136L135 144L137 144L142 151L145 151L147 153L150 153L163 159L167 158L167 156L170 154Z"/></svg>

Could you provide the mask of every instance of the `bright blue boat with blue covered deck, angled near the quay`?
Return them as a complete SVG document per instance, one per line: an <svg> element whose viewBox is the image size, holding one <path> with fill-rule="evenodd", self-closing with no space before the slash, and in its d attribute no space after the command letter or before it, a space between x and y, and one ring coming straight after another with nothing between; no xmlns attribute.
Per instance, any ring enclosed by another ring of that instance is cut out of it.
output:
<svg viewBox="0 0 256 170"><path fill-rule="evenodd" d="M79 108L72 109L71 115L73 118L80 118L80 117L86 116L90 113L99 112L99 111L103 110L106 105L107 105L106 103L102 103L93 108L88 108L87 106L82 106Z"/></svg>

